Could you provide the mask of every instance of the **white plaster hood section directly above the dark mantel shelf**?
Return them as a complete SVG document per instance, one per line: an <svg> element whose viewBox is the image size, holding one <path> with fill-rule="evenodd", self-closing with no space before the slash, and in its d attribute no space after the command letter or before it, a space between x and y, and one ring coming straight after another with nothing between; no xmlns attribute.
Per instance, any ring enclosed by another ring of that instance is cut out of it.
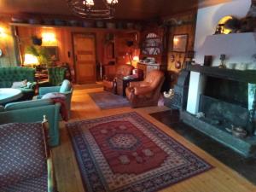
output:
<svg viewBox="0 0 256 192"><path fill-rule="evenodd" d="M220 64L219 56L226 55L225 63L252 62L256 53L256 32L231 33L207 36L201 55L212 55L212 66Z"/></svg>

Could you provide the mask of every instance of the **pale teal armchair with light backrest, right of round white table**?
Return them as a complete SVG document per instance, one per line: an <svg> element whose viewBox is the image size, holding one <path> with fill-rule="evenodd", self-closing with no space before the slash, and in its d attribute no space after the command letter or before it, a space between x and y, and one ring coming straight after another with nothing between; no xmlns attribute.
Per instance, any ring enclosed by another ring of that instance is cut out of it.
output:
<svg viewBox="0 0 256 192"><path fill-rule="evenodd" d="M47 93L62 93L66 96L66 107L68 111L68 116L70 117L71 113L71 98L73 95L73 86L69 80L65 79L61 86L52 86L52 87L40 87L38 90L38 99L42 98Z"/></svg>

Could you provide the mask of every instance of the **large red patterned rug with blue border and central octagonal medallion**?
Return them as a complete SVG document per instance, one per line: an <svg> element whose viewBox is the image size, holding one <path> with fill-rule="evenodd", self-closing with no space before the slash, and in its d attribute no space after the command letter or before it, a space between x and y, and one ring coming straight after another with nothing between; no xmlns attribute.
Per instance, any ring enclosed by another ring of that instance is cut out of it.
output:
<svg viewBox="0 0 256 192"><path fill-rule="evenodd" d="M67 129L88 191L152 192L212 168L135 112Z"/></svg>

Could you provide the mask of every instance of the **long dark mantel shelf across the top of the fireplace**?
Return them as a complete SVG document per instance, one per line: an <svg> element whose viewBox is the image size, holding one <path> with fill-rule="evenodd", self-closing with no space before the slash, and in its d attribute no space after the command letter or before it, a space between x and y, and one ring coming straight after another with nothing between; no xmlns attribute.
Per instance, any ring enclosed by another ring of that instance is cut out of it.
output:
<svg viewBox="0 0 256 192"><path fill-rule="evenodd" d="M187 70L205 74L207 76L256 84L256 70L235 70L218 67L205 67L201 65L188 65Z"/></svg>

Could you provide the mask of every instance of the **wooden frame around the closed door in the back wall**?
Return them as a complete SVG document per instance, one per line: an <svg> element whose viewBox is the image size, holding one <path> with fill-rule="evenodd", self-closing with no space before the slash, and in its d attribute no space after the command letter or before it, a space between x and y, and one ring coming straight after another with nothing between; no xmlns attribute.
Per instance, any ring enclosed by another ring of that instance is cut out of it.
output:
<svg viewBox="0 0 256 192"><path fill-rule="evenodd" d="M95 46L95 61L97 61L97 47L96 47L96 32L71 32L72 36L72 49L73 49L73 68L75 73L75 83L78 82L77 79L77 62L76 62L76 54L75 54L75 48L74 48L74 37L75 35L90 35L94 37L94 46ZM96 64L95 64L95 71L96 71Z"/></svg>

